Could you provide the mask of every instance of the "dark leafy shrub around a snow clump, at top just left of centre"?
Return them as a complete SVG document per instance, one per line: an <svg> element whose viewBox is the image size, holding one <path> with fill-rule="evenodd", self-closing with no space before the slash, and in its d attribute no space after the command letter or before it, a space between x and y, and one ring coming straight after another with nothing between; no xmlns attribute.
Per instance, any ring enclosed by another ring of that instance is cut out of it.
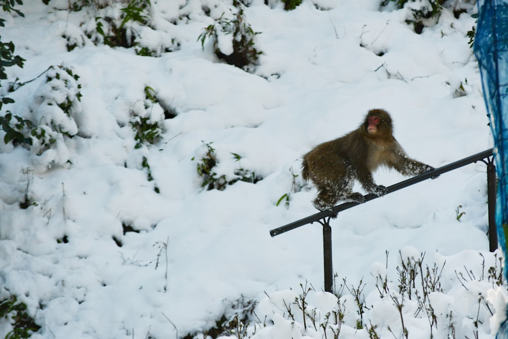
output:
<svg viewBox="0 0 508 339"><path fill-rule="evenodd" d="M220 16L216 23L203 28L198 37L204 49L206 39L210 38L213 52L229 65L236 66L247 72L252 72L258 65L258 56L262 53L255 47L254 39L261 32L255 32L246 22L243 8L238 2L233 16Z"/></svg>

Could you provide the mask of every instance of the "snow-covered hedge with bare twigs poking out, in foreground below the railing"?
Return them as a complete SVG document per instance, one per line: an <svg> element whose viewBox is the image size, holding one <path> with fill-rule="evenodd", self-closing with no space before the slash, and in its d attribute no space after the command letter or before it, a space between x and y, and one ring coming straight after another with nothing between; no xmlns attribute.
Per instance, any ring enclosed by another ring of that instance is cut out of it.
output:
<svg viewBox="0 0 508 339"><path fill-rule="evenodd" d="M495 254L492 266L481 253L479 259L479 267L454 272L445 268L446 261L425 264L425 253L408 247L399 251L395 270L389 270L387 251L387 264L372 266L375 289L369 293L364 292L367 283L363 279L358 284L342 279L339 286L335 284L334 293L316 290L308 282L300 284L299 291L265 292L267 297L250 313L255 322L238 318L242 323L235 328L239 330L213 334L231 339L264 339L280 333L315 339L407 339L410 333L430 338L478 338L480 329L498 320L496 312L505 319L505 303L493 304L491 289L506 295L505 285L501 287L502 259ZM217 324L226 324L225 319L223 316Z"/></svg>

